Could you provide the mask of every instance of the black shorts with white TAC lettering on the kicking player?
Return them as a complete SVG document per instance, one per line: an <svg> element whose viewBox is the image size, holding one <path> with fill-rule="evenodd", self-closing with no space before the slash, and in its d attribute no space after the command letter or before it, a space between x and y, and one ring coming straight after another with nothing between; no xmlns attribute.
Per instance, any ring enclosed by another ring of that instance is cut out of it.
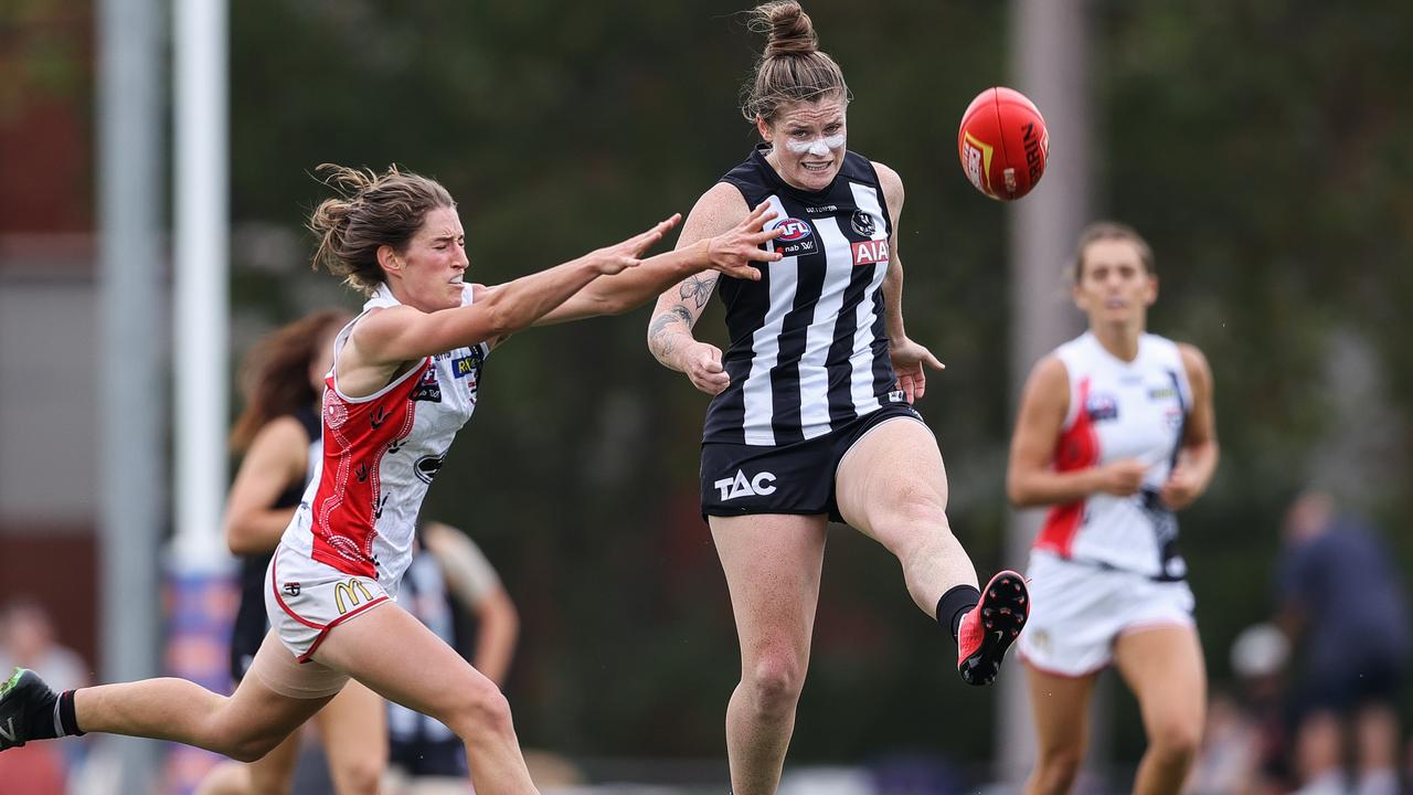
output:
<svg viewBox="0 0 1413 795"><path fill-rule="evenodd" d="M763 447L702 443L702 518L752 513L828 513L842 522L834 475L844 454L865 433L893 417L923 417L906 403L890 403L824 436Z"/></svg>

